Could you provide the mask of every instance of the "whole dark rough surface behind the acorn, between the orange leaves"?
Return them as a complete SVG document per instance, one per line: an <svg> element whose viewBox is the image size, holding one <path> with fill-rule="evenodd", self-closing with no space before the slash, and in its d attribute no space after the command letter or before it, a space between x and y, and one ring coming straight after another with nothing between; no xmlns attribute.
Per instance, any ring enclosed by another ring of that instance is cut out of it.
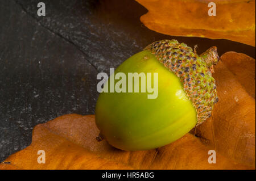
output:
<svg viewBox="0 0 256 181"><path fill-rule="evenodd" d="M46 16L37 16L38 2ZM133 0L0 0L0 162L26 148L32 128L67 113L93 114L97 73L109 72L152 41L177 39L197 52L216 45L255 58L228 40L172 37L139 21Z"/></svg>

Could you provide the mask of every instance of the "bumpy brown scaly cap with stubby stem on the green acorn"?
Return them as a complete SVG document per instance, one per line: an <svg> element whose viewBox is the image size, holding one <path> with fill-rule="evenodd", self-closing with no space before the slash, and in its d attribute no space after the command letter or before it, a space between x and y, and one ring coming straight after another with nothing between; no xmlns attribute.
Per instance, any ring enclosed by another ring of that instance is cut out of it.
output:
<svg viewBox="0 0 256 181"><path fill-rule="evenodd" d="M211 47L200 56L195 50L177 40L155 41L148 45L156 59L179 77L183 89L197 112L197 125L210 117L213 105L218 102L213 65L219 57L216 47Z"/></svg>

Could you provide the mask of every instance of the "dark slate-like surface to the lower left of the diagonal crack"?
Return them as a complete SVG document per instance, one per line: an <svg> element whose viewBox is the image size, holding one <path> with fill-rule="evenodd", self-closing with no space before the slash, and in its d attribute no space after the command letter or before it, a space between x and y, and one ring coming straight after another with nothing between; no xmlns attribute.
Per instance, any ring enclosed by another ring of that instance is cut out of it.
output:
<svg viewBox="0 0 256 181"><path fill-rule="evenodd" d="M85 53L13 1L0 5L0 161L31 142L32 128L94 113L97 70Z"/></svg>

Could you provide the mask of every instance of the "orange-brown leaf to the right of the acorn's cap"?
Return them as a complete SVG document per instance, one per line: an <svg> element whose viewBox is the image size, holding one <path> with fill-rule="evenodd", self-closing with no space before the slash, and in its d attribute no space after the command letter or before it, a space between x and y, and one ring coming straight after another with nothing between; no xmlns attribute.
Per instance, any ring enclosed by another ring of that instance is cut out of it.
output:
<svg viewBox="0 0 256 181"><path fill-rule="evenodd" d="M227 52L214 70L219 102L196 136L226 157L255 167L255 60Z"/></svg>

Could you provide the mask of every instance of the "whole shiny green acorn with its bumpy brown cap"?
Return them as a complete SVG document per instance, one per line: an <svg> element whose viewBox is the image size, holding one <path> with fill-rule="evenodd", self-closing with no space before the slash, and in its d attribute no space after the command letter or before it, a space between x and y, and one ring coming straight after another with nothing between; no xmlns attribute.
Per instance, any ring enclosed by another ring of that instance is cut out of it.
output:
<svg viewBox="0 0 256 181"><path fill-rule="evenodd" d="M110 75L97 100L100 137L118 149L147 150L184 136L208 119L218 102L212 77L218 60L216 47L198 56L177 40L156 41L128 58ZM131 73L146 77L136 81L129 79ZM135 84L145 86L145 80L147 90L135 90ZM113 81L118 91L111 88Z"/></svg>

